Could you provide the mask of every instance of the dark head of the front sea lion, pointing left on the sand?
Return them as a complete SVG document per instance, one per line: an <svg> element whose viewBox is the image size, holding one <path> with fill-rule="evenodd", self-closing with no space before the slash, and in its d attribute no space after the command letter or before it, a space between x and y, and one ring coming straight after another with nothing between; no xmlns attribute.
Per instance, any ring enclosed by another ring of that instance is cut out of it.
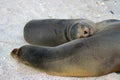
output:
<svg viewBox="0 0 120 80"><path fill-rule="evenodd" d="M13 49L11 56L25 65L40 67L40 64L43 63L42 56L44 56L44 54L42 53L45 51L43 48L38 49L37 46L24 45L20 48Z"/></svg>

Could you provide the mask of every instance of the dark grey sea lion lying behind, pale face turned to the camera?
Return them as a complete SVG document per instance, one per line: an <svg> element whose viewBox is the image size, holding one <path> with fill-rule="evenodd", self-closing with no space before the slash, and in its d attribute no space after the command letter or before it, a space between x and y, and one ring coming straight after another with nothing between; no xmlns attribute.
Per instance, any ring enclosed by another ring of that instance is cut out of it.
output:
<svg viewBox="0 0 120 80"><path fill-rule="evenodd" d="M24 27L24 38L30 44L57 46L92 35L94 26L87 19L32 20Z"/></svg>

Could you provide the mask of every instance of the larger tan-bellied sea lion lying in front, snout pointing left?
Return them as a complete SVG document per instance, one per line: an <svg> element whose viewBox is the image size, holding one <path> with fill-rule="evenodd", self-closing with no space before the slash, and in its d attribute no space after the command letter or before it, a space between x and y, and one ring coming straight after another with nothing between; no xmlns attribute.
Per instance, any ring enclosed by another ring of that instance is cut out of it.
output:
<svg viewBox="0 0 120 80"><path fill-rule="evenodd" d="M96 77L120 71L120 23L56 47L22 46L11 55L51 75Z"/></svg>

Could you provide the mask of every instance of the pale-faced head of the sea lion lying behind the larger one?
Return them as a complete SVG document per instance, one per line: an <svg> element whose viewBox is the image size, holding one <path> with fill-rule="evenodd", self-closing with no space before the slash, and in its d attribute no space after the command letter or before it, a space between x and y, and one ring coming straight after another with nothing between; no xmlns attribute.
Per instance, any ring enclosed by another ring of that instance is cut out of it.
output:
<svg viewBox="0 0 120 80"><path fill-rule="evenodd" d="M70 40L85 38L95 33L95 23L93 22L78 22L71 26L69 30Z"/></svg>

